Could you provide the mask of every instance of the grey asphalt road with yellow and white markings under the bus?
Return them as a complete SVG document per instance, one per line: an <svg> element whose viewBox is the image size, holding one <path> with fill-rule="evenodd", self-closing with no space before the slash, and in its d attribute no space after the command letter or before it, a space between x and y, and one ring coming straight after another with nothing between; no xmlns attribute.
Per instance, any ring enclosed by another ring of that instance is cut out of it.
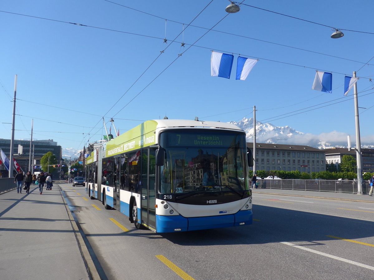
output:
<svg viewBox="0 0 374 280"><path fill-rule="evenodd" d="M59 184L102 279L374 279L374 204L254 193L252 225L137 230Z"/></svg>

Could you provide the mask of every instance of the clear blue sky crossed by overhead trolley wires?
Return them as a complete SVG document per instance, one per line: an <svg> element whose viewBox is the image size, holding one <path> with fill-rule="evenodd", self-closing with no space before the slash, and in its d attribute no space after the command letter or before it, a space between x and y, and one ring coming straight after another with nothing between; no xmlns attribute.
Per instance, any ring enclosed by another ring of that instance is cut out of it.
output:
<svg viewBox="0 0 374 280"><path fill-rule="evenodd" d="M53 139L63 148L82 149L88 141L102 139L104 114L105 121L113 117L123 133L141 121L165 115L239 121L251 117L255 105L258 121L289 125L309 136L322 134L326 140L341 137L344 142L350 134L354 142L353 89L341 98L344 74L353 71L365 77L358 81L359 106L373 106L370 93L374 90L370 89L374 84L368 78L374 76L374 59L369 62L373 65L364 63L374 56L374 34L353 32L373 32L372 1L243 2L353 30L343 30L345 35L339 39L330 38L333 31L329 27L245 5L224 18L227 0L210 4L208 0L113 2L127 7L105 0L1 1L1 122L12 122L17 74L20 100L16 102L15 139L30 138L33 118L34 139ZM165 19L167 44L163 43ZM191 21L196 27L187 27ZM183 29L180 23L185 24L185 47L180 44L182 34L176 39L179 43L172 43ZM204 35L212 27L216 31ZM234 53L230 80L211 77L211 50ZM183 55L175 60L180 53ZM259 59L245 81L235 80L237 54ZM334 72L332 94L311 89L316 69ZM322 105L311 107L318 104ZM325 107L316 109L321 106ZM373 110L359 109L362 142L374 142ZM294 115L294 111L303 113ZM0 131L0 138L10 139L10 124L0 124Z"/></svg>

